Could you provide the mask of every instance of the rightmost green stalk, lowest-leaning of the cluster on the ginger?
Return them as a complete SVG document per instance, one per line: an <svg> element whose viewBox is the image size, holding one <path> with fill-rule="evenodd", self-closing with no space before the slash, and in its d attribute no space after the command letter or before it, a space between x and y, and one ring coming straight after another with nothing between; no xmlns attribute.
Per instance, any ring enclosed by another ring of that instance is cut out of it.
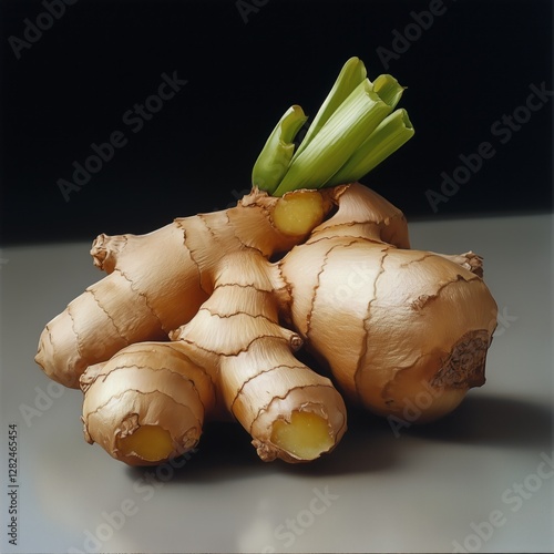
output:
<svg viewBox="0 0 554 554"><path fill-rule="evenodd" d="M352 183L367 175L413 136L413 126L403 109L387 116L348 162L326 183L336 186Z"/></svg>

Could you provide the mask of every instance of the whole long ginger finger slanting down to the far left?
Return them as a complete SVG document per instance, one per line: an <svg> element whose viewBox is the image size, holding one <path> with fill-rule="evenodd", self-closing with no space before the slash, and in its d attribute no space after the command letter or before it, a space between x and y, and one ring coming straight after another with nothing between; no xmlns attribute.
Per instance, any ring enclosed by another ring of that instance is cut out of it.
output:
<svg viewBox="0 0 554 554"><path fill-rule="evenodd" d="M276 229L277 201L253 191L236 207L178 218L147 235L100 235L91 254L109 275L45 326L35 361L55 381L79 388L88 366L134 342L167 340L212 293L223 254L252 247L269 257L304 239Z"/></svg>

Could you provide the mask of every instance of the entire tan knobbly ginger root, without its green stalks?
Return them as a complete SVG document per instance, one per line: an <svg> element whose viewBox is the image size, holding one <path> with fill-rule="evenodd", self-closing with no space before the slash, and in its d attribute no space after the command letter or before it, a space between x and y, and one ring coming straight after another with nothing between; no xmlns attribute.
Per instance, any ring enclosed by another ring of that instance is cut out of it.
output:
<svg viewBox="0 0 554 554"><path fill-rule="evenodd" d="M35 359L81 387L85 439L129 464L183 454L229 417L263 460L309 461L343 435L342 397L399 421L416 403L423 422L484 382L496 305L481 259L411 250L402 213L358 183L253 191L101 235L92 255L109 275L47 325Z"/></svg>

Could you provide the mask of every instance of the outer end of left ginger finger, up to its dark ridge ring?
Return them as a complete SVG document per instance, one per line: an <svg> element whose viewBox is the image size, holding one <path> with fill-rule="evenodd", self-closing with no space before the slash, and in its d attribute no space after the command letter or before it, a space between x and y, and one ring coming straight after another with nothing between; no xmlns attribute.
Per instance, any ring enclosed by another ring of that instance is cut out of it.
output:
<svg viewBox="0 0 554 554"><path fill-rule="evenodd" d="M142 340L162 340L206 299L185 235L167 225L147 235L100 235L91 254L109 275L50 321L37 362L66 387L88 366Z"/></svg>

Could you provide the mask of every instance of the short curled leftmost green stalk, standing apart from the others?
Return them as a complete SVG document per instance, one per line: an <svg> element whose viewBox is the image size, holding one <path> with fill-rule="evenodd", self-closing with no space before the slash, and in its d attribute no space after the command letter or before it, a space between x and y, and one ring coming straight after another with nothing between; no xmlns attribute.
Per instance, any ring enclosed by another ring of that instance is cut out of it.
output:
<svg viewBox="0 0 554 554"><path fill-rule="evenodd" d="M273 194L287 173L295 153L294 140L307 116L299 105L290 106L279 120L252 171L252 184Z"/></svg>

